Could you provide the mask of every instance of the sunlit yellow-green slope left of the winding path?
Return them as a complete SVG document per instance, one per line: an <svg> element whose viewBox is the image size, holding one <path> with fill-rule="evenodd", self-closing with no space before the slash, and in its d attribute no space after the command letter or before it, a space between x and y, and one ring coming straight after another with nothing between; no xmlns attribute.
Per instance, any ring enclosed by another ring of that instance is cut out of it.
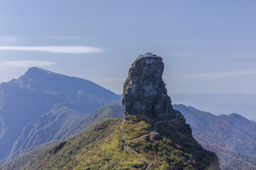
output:
<svg viewBox="0 0 256 170"><path fill-rule="evenodd" d="M23 170L137 170L146 162L123 150L122 119L104 119L89 130L37 154ZM7 169L3 169L7 170Z"/></svg>

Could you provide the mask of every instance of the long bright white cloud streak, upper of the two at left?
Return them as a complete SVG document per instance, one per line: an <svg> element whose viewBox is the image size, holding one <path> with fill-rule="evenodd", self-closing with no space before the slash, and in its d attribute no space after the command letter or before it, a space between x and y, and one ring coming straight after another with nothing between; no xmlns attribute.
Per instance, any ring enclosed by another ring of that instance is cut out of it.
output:
<svg viewBox="0 0 256 170"><path fill-rule="evenodd" d="M95 53L101 52L100 48L90 46L38 46L38 47L23 47L23 46L0 46L0 50L16 50L16 51L45 51L55 53Z"/></svg>

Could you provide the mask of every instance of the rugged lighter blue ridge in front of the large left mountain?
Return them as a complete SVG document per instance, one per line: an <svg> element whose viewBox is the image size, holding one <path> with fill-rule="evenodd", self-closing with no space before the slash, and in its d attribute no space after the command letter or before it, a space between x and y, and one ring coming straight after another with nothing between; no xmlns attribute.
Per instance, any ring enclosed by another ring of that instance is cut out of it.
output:
<svg viewBox="0 0 256 170"><path fill-rule="evenodd" d="M27 123L21 136L13 144L7 161L39 144L63 140L62 136L67 129L84 118L81 112L72 110L64 104L55 104L47 114L39 118L37 124Z"/></svg>

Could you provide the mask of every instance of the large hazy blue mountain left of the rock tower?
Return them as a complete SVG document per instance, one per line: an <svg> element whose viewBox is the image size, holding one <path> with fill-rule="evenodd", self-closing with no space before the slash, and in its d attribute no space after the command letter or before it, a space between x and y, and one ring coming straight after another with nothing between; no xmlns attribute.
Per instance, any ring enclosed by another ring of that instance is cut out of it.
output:
<svg viewBox="0 0 256 170"><path fill-rule="evenodd" d="M0 159L49 140L93 110L121 101L89 80L41 68L0 84Z"/></svg>

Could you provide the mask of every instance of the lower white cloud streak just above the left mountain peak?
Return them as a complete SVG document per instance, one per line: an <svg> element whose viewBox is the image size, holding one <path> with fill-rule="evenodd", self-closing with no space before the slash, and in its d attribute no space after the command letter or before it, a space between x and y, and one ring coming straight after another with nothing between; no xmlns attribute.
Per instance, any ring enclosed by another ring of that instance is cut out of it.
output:
<svg viewBox="0 0 256 170"><path fill-rule="evenodd" d="M27 68L27 67L40 67L52 66L54 62L50 61L37 61L37 60L14 60L14 61L0 61L0 68Z"/></svg>

